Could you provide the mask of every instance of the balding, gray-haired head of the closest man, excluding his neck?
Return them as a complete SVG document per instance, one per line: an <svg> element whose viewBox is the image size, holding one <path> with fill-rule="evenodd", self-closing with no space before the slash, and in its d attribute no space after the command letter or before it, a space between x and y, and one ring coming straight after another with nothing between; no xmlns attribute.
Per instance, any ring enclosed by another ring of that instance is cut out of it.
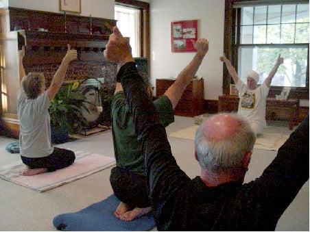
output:
<svg viewBox="0 0 310 232"><path fill-rule="evenodd" d="M217 122L218 118L223 118L223 120L221 128L217 128L215 133L221 133L223 138L216 139L214 134L210 133L210 127L215 121ZM227 130L224 126L233 127L233 123L237 123L235 133L224 137ZM242 165L244 154L252 153L255 139L254 132L242 116L217 114L205 120L195 133L196 157L202 170L208 170L213 174L230 173Z"/></svg>

